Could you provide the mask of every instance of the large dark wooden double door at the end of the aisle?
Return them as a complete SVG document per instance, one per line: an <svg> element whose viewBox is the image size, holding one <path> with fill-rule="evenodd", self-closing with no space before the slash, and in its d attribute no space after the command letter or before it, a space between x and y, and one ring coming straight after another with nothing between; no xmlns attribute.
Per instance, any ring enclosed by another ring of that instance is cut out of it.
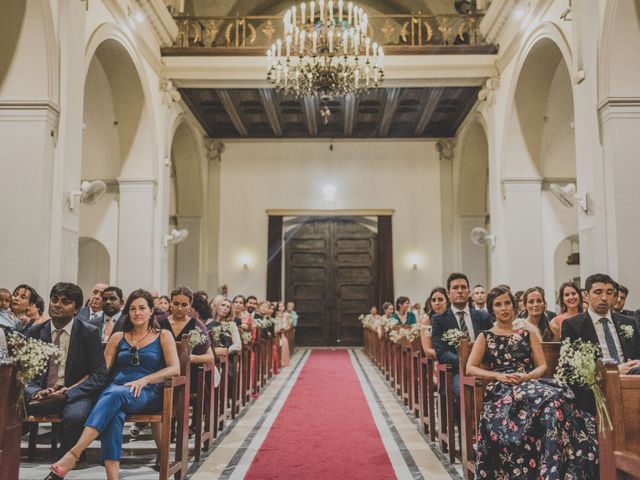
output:
<svg viewBox="0 0 640 480"><path fill-rule="evenodd" d="M360 217L315 217L285 234L285 298L300 345L362 345L358 316L377 298L377 234Z"/></svg>

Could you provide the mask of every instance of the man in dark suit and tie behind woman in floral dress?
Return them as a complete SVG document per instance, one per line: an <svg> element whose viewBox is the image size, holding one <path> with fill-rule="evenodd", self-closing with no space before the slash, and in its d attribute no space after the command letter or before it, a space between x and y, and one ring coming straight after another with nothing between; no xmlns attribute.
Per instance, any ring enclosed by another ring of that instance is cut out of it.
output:
<svg viewBox="0 0 640 480"><path fill-rule="evenodd" d="M469 280L464 273L449 275L447 294L451 300L451 307L433 317L432 340L438 361L451 364L453 367L453 393L456 411L459 411L460 359L456 349L442 341L442 335L447 330L461 330L474 341L480 332L493 327L493 322L487 312L469 307Z"/></svg>

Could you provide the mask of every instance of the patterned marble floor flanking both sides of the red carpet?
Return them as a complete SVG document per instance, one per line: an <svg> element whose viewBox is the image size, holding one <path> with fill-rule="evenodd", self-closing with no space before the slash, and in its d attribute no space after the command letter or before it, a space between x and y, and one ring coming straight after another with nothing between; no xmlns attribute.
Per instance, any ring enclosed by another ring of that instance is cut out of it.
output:
<svg viewBox="0 0 640 480"><path fill-rule="evenodd" d="M360 348L349 349L352 365L363 389L371 413L389 453L396 476L400 480L462 479L462 469L456 462L450 465L439 448L422 433L418 420L398 400L395 394ZM216 439L213 449L198 463L191 463L188 478L192 480L240 480L249 468L271 425L284 405L310 351L298 348L291 366L282 369L254 400L249 408L233 420ZM155 445L150 431L135 440L125 426L121 478L152 480L158 473L151 467L155 461ZM26 451L26 436L23 452ZM192 443L191 443L192 445ZM102 480L104 468L97 464L99 442L88 450L88 462L82 463L66 478L69 480ZM33 462L22 458L20 480L41 480L53 461L48 448L48 430L41 428L38 455ZM89 466L93 465L93 466ZM372 479L374 480L374 479Z"/></svg>

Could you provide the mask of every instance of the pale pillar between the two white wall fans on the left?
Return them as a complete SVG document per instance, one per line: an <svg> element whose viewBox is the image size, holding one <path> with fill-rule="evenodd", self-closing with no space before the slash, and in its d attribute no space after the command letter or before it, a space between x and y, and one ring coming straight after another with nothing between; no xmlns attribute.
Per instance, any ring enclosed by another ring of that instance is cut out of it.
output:
<svg viewBox="0 0 640 480"><path fill-rule="evenodd" d="M125 293L153 286L154 179L119 178L117 285Z"/></svg>

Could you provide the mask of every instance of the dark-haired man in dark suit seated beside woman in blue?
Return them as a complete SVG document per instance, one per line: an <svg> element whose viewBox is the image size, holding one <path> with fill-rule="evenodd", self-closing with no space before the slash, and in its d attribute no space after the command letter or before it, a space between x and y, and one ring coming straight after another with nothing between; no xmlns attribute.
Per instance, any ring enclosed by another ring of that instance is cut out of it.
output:
<svg viewBox="0 0 640 480"><path fill-rule="evenodd" d="M27 400L33 413L56 413L62 417L60 452L65 454L80 438L93 403L107 382L100 332L74 319L82 307L82 290L72 283L51 289L51 320L36 325L28 336L53 343L62 351L59 362L50 360L39 381L28 385Z"/></svg>

